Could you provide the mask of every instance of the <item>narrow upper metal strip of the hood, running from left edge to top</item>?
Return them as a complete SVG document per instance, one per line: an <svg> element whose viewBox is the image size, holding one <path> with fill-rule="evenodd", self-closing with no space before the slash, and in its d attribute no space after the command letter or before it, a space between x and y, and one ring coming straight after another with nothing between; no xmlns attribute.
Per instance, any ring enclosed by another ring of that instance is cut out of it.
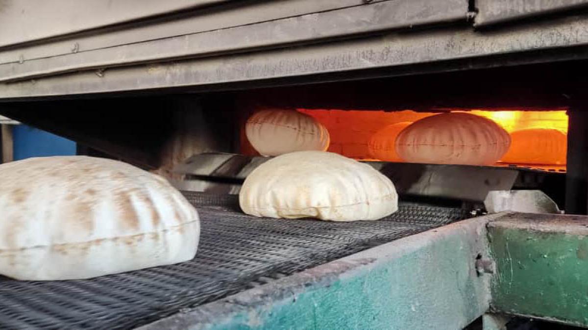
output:
<svg viewBox="0 0 588 330"><path fill-rule="evenodd" d="M380 2L375 0L370 3ZM358 0L273 0L246 1L236 5L216 7L216 10L192 11L175 19L154 20L125 26L114 31L83 33L65 40L54 40L40 45L22 45L18 48L3 49L0 52L0 64L19 63L21 60L48 58L76 52L109 48L189 35L252 23L273 21L275 19L331 11L363 4Z"/></svg>

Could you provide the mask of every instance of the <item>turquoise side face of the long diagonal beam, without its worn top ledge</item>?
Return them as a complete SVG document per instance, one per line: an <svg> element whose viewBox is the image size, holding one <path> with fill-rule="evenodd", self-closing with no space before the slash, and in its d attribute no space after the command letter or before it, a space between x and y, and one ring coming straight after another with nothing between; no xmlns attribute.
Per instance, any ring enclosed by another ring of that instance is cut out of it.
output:
<svg viewBox="0 0 588 330"><path fill-rule="evenodd" d="M243 313L212 329L425 329L442 319L455 329L479 314L477 278L448 257L459 253L455 243L440 242L432 245L435 251L414 251L389 265L310 287L271 309Z"/></svg>

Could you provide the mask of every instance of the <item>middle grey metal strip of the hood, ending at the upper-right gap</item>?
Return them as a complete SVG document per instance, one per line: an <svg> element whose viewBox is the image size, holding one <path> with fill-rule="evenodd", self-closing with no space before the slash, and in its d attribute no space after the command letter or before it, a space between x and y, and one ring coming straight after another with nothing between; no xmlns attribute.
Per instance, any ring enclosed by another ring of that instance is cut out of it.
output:
<svg viewBox="0 0 588 330"><path fill-rule="evenodd" d="M462 0L382 1L235 28L5 63L0 65L0 82L75 70L275 48L430 23L465 21L466 14L467 6Z"/></svg>

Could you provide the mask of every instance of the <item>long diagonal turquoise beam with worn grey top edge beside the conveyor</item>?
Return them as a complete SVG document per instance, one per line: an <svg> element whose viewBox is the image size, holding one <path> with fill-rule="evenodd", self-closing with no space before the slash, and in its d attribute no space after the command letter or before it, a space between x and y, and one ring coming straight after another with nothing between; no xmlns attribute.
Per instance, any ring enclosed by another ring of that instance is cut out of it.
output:
<svg viewBox="0 0 588 330"><path fill-rule="evenodd" d="M488 218L403 238L145 329L460 329L489 308Z"/></svg>

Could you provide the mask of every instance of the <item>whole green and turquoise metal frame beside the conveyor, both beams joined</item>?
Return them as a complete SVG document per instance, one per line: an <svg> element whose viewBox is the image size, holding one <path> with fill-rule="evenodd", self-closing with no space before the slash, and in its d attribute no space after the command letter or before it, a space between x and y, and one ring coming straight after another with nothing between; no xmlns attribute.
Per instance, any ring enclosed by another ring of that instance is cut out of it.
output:
<svg viewBox="0 0 588 330"><path fill-rule="evenodd" d="M459 329L482 315L493 330L509 315L588 327L588 217L472 218L142 329Z"/></svg>

